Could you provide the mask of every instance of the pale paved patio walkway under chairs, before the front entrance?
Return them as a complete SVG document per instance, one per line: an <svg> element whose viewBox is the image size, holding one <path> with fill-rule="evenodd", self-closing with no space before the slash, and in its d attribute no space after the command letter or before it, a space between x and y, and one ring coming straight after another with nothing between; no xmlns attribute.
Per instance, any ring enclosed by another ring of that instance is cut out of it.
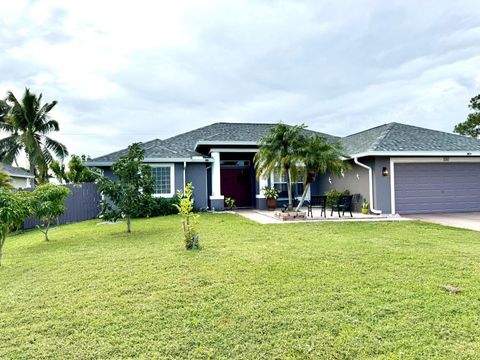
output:
<svg viewBox="0 0 480 360"><path fill-rule="evenodd" d="M280 210L278 210L280 211ZM301 211L307 212L307 208L302 208ZM257 210L257 209L241 209L235 211L237 214L246 217L247 219L256 221L260 224L286 224L297 222L322 222L322 221L409 221L410 219L400 217L399 215L364 215L362 213L345 213L345 216L338 217L336 212L330 216L330 211L327 211L327 217L320 217L320 209L313 209L313 218L308 217L306 220L281 220L275 216L276 211Z"/></svg>

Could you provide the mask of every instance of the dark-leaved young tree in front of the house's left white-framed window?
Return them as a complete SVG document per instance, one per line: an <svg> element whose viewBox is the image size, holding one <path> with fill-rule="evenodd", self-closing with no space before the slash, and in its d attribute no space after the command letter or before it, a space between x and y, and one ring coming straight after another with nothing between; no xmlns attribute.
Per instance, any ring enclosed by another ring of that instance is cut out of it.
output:
<svg viewBox="0 0 480 360"><path fill-rule="evenodd" d="M106 197L102 215L110 217L118 210L127 219L127 232L131 232L132 217L140 210L145 212L145 209L151 208L154 190L152 169L142 163L143 157L140 145L132 144L128 147L128 155L120 157L112 166L116 180L107 177L97 180L100 192Z"/></svg>

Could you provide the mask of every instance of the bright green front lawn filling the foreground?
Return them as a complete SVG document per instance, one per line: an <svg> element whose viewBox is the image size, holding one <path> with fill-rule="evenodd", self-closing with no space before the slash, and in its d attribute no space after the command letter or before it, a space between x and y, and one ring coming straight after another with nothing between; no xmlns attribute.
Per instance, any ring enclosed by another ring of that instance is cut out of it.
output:
<svg viewBox="0 0 480 360"><path fill-rule="evenodd" d="M202 215L7 239L0 358L476 358L480 235ZM459 289L452 293L448 287Z"/></svg>

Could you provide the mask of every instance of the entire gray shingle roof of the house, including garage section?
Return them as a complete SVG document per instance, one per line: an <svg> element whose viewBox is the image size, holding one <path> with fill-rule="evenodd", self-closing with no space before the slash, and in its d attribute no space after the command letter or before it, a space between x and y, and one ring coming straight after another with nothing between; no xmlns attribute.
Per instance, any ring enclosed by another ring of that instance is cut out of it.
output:
<svg viewBox="0 0 480 360"><path fill-rule="evenodd" d="M155 139L141 144L145 158L185 159L206 155L195 150L198 142L256 143L277 124L215 123L171 138ZM305 130L307 134L323 136L327 141L340 141L347 154L399 151L480 151L480 140L411 125L389 123L353 135L339 138ZM198 149L197 149L198 150ZM115 162L126 155L127 149L92 159L90 162Z"/></svg>

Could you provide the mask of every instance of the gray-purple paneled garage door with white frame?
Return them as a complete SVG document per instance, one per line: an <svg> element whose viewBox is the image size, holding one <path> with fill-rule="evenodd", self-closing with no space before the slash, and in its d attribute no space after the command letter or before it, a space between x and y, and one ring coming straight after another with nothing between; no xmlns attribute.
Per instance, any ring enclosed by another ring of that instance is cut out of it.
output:
<svg viewBox="0 0 480 360"><path fill-rule="evenodd" d="M399 214L480 211L480 163L395 164Z"/></svg>

